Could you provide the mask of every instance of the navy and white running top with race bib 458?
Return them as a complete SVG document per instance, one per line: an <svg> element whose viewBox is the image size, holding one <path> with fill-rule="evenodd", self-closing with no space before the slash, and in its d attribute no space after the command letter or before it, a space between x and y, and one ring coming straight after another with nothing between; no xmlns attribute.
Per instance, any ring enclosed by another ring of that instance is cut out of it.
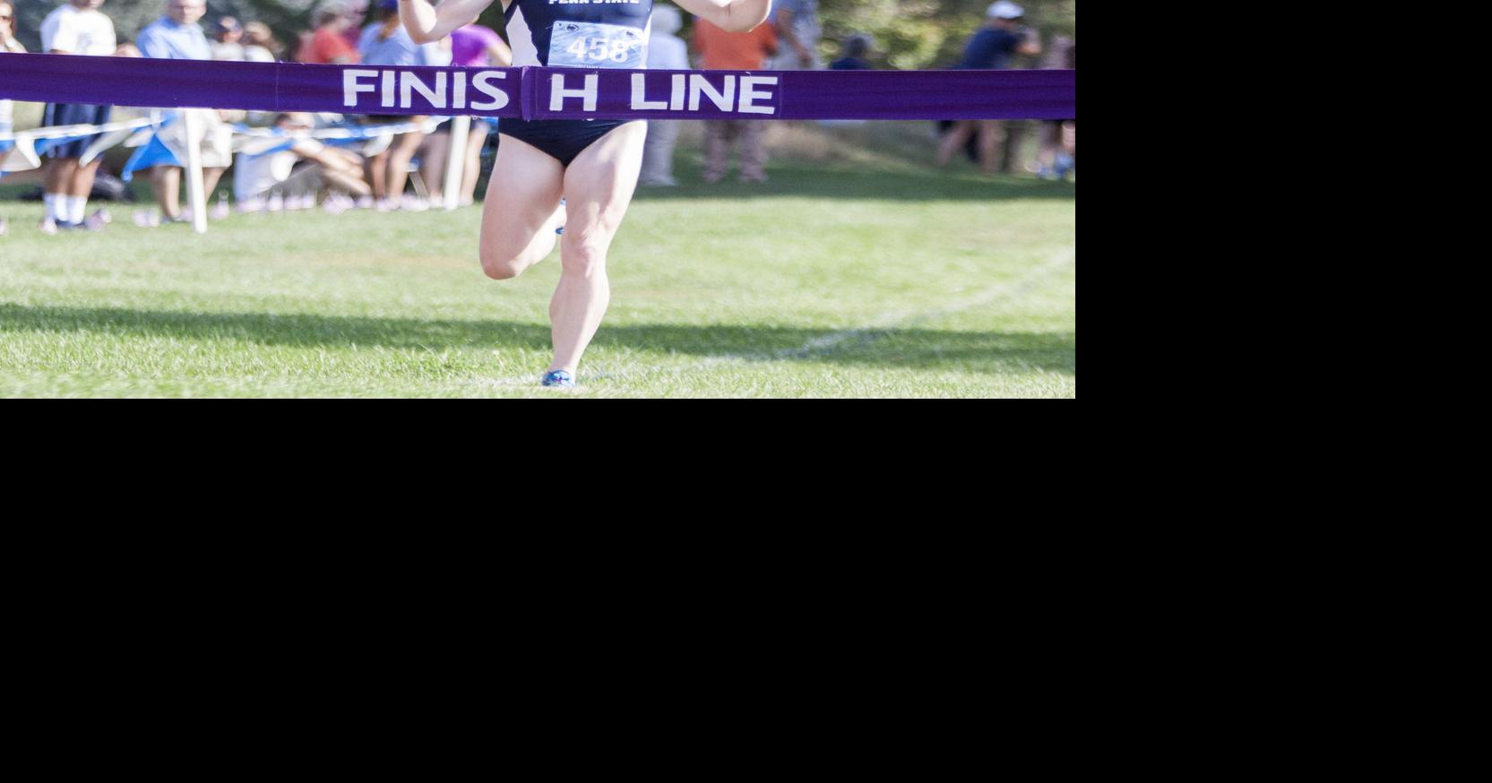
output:
<svg viewBox="0 0 1492 783"><path fill-rule="evenodd" d="M513 66L648 67L652 0L513 0Z"/></svg>

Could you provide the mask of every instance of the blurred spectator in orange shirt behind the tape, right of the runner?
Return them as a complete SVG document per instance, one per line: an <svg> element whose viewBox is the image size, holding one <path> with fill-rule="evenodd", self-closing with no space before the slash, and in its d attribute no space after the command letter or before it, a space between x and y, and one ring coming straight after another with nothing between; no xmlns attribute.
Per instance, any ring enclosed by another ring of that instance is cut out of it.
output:
<svg viewBox="0 0 1492 783"><path fill-rule="evenodd" d="M694 48L706 70L761 70L777 51L777 34L770 24L750 33L727 33L706 19L694 21ZM707 119L704 122L704 182L725 177L731 142L740 140L742 182L767 182L767 124L749 119Z"/></svg>

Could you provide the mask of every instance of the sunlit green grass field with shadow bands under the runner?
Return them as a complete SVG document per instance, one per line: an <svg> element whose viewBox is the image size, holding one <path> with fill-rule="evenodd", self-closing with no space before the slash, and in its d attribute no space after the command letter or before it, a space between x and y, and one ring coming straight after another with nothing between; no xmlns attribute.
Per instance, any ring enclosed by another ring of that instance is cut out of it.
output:
<svg viewBox="0 0 1492 783"><path fill-rule="evenodd" d="M558 252L488 280L476 209L46 237L0 185L0 395L1076 397L1076 185L695 158L634 203L573 392L536 386Z"/></svg>

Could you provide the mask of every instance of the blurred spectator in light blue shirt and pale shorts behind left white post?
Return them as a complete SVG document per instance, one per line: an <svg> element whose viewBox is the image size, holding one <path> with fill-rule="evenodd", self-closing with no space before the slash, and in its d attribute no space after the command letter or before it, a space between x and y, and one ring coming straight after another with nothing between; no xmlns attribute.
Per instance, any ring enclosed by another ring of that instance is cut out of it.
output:
<svg viewBox="0 0 1492 783"><path fill-rule="evenodd" d="M212 60L212 45L197 24L206 13L207 0L166 0L166 16L140 30L134 45L145 57L157 60ZM188 136L188 115L198 119L197 130L201 137ZM176 113L176 121L161 128L158 136L182 163L186 163L188 145L197 145L201 151L201 179L206 194L216 189L222 173L233 166L233 128L212 109L182 109ZM151 169L151 183L161 206L161 222L185 222L181 206L182 169L157 166Z"/></svg>

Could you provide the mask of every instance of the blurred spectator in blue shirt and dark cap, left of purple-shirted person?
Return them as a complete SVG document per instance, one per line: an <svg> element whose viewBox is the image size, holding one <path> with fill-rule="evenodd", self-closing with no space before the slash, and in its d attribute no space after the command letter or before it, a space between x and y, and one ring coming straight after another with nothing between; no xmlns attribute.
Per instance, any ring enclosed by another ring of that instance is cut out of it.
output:
<svg viewBox="0 0 1492 783"><path fill-rule="evenodd" d="M449 63L449 51L442 43L418 45L398 19L398 0L377 1L379 21L363 30L358 52L369 66L443 66ZM449 42L446 42L449 45ZM370 116L374 122L424 122L425 116ZM369 182L373 185L374 206L379 210L400 209L404 198L404 183L409 182L409 164L415 160L424 133L404 133L382 152L367 160ZM407 204L418 209L418 204Z"/></svg>

